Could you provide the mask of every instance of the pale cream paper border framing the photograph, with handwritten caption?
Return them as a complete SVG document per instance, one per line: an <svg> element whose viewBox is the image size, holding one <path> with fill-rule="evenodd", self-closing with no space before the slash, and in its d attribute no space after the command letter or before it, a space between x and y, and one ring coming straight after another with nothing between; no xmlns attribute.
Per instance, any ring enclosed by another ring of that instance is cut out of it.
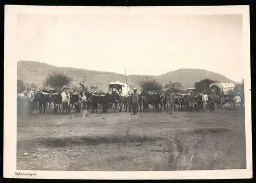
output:
<svg viewBox="0 0 256 183"><path fill-rule="evenodd" d="M23 171L16 170L17 118L17 16L18 14L164 14L164 15L216 15L241 14L243 16L243 62L245 81L246 169L200 171ZM186 7L61 7L61 6L5 6L4 51L4 177L40 179L240 179L252 178L251 92L250 92L250 25L249 6L186 6ZM8 97L8 100L6 99ZM15 115L14 115L15 114ZM35 176L18 175L35 173Z"/></svg>

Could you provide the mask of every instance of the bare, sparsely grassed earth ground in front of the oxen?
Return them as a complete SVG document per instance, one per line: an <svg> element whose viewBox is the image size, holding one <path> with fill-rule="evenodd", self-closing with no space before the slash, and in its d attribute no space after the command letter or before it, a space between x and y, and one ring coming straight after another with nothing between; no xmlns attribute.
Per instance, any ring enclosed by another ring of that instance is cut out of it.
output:
<svg viewBox="0 0 256 183"><path fill-rule="evenodd" d="M17 121L18 170L245 168L242 111L33 114Z"/></svg>

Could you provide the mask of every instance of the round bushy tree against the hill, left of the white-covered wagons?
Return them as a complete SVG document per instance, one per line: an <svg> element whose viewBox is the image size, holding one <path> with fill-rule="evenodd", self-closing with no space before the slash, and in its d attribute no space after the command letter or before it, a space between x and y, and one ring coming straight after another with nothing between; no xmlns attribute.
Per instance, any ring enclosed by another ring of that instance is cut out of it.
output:
<svg viewBox="0 0 256 183"><path fill-rule="evenodd" d="M55 72L47 75L45 85L55 90L61 90L63 87L69 85L70 82L71 78L67 74Z"/></svg>

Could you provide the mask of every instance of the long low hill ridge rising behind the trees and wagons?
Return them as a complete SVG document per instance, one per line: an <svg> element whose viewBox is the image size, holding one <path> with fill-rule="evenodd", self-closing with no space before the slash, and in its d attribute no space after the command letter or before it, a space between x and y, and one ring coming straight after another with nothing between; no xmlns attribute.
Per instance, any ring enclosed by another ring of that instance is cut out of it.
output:
<svg viewBox="0 0 256 183"><path fill-rule="evenodd" d="M85 70L69 67L55 67L49 64L32 62L32 61L19 61L17 63L17 77L23 80L27 86L31 83L36 84L38 87L42 87L48 73L61 71L67 73L72 78L71 86L79 86L79 82L82 82L86 78L88 86L97 86L99 90L108 90L108 85L113 81L120 81L126 83L125 75L114 72L101 72L94 70ZM193 87L195 82L202 79L209 78L219 82L232 82L230 79L219 73L201 70L201 69L178 69L176 71L170 71L161 75L128 75L127 83L131 87L139 87L139 82L143 78L149 77L156 79L163 83L172 81L180 82L185 87Z"/></svg>

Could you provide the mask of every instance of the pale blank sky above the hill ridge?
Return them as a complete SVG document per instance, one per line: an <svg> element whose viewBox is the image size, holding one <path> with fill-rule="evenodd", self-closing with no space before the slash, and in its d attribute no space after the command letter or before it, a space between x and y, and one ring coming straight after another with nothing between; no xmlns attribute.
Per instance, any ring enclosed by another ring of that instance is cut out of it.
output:
<svg viewBox="0 0 256 183"><path fill-rule="evenodd" d="M205 69L243 79L242 15L18 15L19 60L160 75Z"/></svg>

